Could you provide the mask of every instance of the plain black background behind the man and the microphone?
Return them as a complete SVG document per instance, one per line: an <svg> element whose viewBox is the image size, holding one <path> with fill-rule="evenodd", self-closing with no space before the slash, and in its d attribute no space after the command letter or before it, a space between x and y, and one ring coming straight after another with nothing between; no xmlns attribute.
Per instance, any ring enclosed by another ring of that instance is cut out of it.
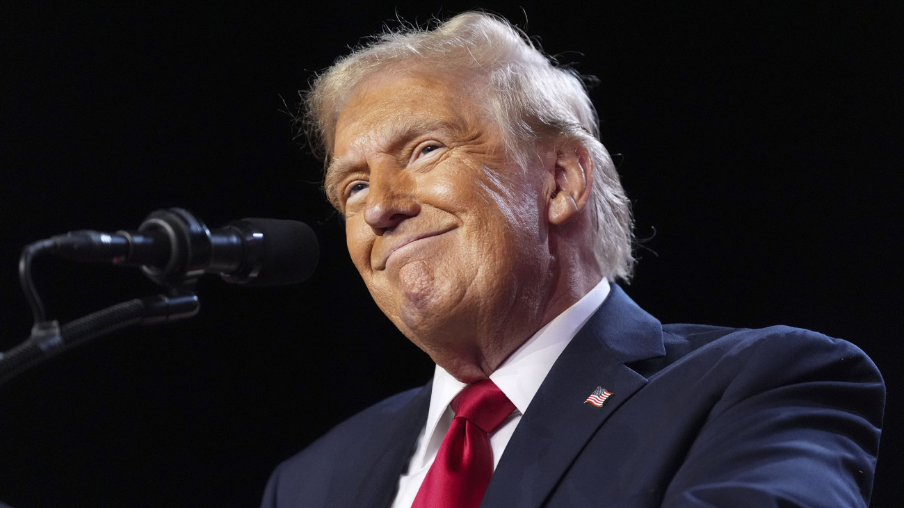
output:
<svg viewBox="0 0 904 508"><path fill-rule="evenodd" d="M193 320L0 387L0 500L255 505L280 460L432 372L367 295L284 100L396 12L474 5L80 4L0 11L0 350L31 325L20 249L67 230L134 229L170 206L211 227L297 219L322 261L297 287L205 278ZM811 328L871 355L890 390L873 506L897 505L899 3L483 6L522 26L526 13L548 52L599 77L604 142L649 239L626 287L641 306L664 322ZM122 268L35 272L62 322L158 291Z"/></svg>

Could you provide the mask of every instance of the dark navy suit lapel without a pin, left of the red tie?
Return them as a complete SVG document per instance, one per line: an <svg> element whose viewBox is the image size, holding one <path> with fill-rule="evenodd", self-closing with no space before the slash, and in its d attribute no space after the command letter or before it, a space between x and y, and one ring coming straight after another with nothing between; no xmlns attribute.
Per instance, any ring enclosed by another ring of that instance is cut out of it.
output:
<svg viewBox="0 0 904 508"><path fill-rule="evenodd" d="M392 503L399 476L408 466L415 441L427 420L432 385L430 380L396 413L395 418L387 420L384 428L370 433L380 440L362 443L369 453L354 467L353 474L345 482L350 487L344 491L344 499L337 500L335 506L376 508ZM351 485L360 487L355 489Z"/></svg>

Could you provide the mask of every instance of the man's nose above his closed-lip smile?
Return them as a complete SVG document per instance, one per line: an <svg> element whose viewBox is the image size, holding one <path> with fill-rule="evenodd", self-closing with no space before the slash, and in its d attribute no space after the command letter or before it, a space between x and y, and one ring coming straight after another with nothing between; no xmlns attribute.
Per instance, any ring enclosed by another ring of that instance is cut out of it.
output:
<svg viewBox="0 0 904 508"><path fill-rule="evenodd" d="M364 221L374 234L382 236L420 212L415 186L411 174L400 167L371 168Z"/></svg>

